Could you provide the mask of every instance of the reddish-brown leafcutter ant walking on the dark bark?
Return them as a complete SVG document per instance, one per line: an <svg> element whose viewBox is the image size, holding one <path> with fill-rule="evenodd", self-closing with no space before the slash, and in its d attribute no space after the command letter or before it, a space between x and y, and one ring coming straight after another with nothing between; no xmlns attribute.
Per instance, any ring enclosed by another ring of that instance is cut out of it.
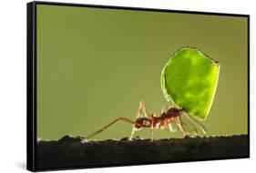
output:
<svg viewBox="0 0 256 173"><path fill-rule="evenodd" d="M144 117L140 117L141 111ZM190 122L188 123L188 122L185 122L184 120L181 120L181 116L187 117L187 119L189 119ZM144 102L140 102L135 121L130 120L127 117L118 117L117 119L109 123L107 126L102 127L97 131L95 131L94 133L88 135L87 139L94 137L98 133L106 130L108 127L118 122L118 120L122 120L129 124L132 124L132 131L131 131L129 140L133 138L135 131L139 131L143 129L143 127L148 127L150 128L151 141L153 141L154 129L158 129L158 128L164 129L169 127L170 132L176 131L176 129L172 127L172 123L176 123L177 127L179 127L179 130L183 133L183 137L189 136L189 134L191 133L194 133L195 135L197 135L199 132L197 127L200 128L203 134L206 133L206 128L202 124L200 124L200 122L197 119L195 119L195 117L189 116L189 114L183 111L182 108L179 108L179 107L168 107L167 109L163 108L160 116L156 117L155 114L148 113ZM186 128L189 127L189 130L188 131L185 130L185 127Z"/></svg>

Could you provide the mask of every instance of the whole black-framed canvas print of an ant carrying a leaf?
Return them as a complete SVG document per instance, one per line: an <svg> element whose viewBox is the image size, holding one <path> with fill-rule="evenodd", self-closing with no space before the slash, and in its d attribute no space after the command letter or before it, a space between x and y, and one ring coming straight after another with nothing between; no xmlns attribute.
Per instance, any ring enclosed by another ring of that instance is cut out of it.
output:
<svg viewBox="0 0 256 173"><path fill-rule="evenodd" d="M250 16L27 4L27 169L250 157Z"/></svg>

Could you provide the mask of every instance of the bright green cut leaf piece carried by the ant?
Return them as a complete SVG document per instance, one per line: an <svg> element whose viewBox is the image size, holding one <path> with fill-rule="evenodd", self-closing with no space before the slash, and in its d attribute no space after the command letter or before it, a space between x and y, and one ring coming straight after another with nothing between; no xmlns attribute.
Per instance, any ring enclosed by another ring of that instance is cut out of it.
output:
<svg viewBox="0 0 256 173"><path fill-rule="evenodd" d="M193 47L179 49L161 73L161 87L168 101L191 116L206 119L218 85L220 65Z"/></svg>

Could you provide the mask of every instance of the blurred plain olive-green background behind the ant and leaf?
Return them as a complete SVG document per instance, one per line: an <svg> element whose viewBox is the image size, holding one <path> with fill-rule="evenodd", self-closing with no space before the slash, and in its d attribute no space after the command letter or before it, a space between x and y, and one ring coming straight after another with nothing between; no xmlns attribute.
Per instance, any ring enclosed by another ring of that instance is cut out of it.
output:
<svg viewBox="0 0 256 173"><path fill-rule="evenodd" d="M135 118L139 101L157 115L168 103L160 73L182 46L220 62L210 135L247 133L246 17L37 5L37 137L87 136L116 117ZM118 122L94 139L128 137ZM150 137L149 129L135 135ZM158 130L155 137L182 137Z"/></svg>

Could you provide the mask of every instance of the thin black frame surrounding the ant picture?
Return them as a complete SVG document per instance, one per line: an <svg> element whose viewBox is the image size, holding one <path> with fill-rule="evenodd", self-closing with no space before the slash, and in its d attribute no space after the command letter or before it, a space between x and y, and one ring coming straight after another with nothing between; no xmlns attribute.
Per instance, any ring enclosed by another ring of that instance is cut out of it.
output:
<svg viewBox="0 0 256 173"><path fill-rule="evenodd" d="M154 11L154 12L169 12L178 14L196 14L196 15L224 15L224 16L241 16L248 19L248 155L240 158L250 158L250 15L239 14L225 14L225 13L210 13L199 11L182 11L182 10L169 10L169 9L153 9L141 7L128 7L128 6L112 6L112 5L83 5L83 4L70 4L70 3L54 3L54 2L41 2L34 1L27 3L27 16L26 16L26 36L27 36L27 83L26 83L26 168L30 171L52 170L51 168L38 169L36 167L36 5L65 5L65 6L80 6L80 7L96 7L107 9L121 9L121 10L138 10L138 11ZM215 160L215 159L230 159L230 158L211 158L211 159L191 159L181 160L186 161L201 161L201 160ZM171 163L180 162L172 161ZM154 163L134 163L134 164L121 164L121 165L100 165L102 167L117 167L117 166L132 166L132 165L146 165L146 164L160 164L169 163L169 161L161 161ZM76 168L95 168L95 167L76 167ZM55 168L56 169L74 169L74 168Z"/></svg>

